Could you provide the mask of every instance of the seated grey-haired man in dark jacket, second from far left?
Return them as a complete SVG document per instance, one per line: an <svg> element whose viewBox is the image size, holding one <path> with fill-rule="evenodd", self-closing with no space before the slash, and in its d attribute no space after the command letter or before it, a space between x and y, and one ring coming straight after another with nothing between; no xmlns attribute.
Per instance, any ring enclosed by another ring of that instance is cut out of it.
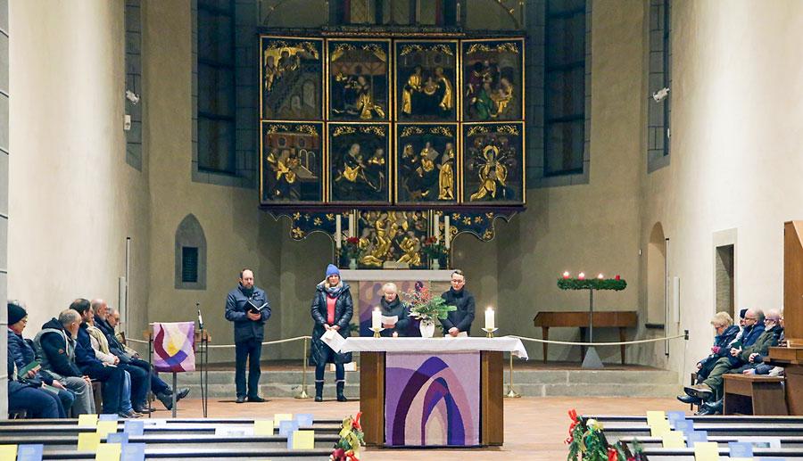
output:
<svg viewBox="0 0 803 461"><path fill-rule="evenodd" d="M92 382L75 363L75 337L80 325L78 312L66 309L58 318L42 325L34 337L34 349L42 369L75 394L73 416L95 413Z"/></svg>

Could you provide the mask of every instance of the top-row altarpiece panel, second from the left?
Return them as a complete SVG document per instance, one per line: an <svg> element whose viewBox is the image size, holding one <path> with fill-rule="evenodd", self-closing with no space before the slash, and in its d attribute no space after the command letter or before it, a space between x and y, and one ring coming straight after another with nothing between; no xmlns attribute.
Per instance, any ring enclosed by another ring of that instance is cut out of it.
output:
<svg viewBox="0 0 803 461"><path fill-rule="evenodd" d="M327 40L328 119L388 120L390 40Z"/></svg>

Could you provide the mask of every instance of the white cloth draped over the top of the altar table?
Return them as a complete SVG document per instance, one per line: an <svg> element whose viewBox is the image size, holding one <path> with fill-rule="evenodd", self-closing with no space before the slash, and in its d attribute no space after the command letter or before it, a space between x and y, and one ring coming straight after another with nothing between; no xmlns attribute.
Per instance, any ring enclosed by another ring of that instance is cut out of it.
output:
<svg viewBox="0 0 803 461"><path fill-rule="evenodd" d="M459 352L468 350L500 350L527 359L521 340L512 336L497 338L347 338L340 352Z"/></svg>

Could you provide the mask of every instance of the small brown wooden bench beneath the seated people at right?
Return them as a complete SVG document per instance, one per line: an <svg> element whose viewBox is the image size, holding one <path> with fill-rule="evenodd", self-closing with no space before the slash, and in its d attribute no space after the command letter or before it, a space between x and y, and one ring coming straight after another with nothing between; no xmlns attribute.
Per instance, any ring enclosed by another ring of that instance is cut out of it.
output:
<svg viewBox="0 0 803 461"><path fill-rule="evenodd" d="M781 376L722 376L724 415L789 415Z"/></svg>

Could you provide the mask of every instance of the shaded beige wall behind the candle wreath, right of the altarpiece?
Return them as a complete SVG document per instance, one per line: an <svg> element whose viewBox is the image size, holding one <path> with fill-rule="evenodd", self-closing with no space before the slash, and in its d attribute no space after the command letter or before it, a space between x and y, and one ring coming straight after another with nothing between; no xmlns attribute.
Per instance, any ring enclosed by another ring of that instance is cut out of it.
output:
<svg viewBox="0 0 803 461"><path fill-rule="evenodd" d="M562 292L564 270L600 272L627 280L624 292L598 292L595 309L638 310L639 181L642 174L641 119L643 7L641 1L594 2L592 15L591 177L587 185L531 188L526 212L498 225L499 324L501 331L541 338L538 311L588 310L588 292ZM631 333L632 335L632 333ZM595 341L618 341L599 330ZM550 339L576 341L577 329L552 329ZM540 344L526 342L531 358ZM605 361L618 348L598 350ZM552 360L579 358L579 348L552 345Z"/></svg>

